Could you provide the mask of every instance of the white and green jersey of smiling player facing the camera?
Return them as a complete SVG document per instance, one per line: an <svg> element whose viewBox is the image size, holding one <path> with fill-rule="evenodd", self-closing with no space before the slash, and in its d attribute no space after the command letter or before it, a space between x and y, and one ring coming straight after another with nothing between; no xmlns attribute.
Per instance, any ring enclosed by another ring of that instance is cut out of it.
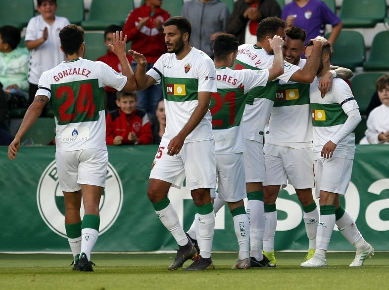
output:
<svg viewBox="0 0 389 290"><path fill-rule="evenodd" d="M298 66L303 68L305 64L306 59L301 59ZM269 134L265 142L293 148L311 147L311 120L309 83L285 83L281 80L269 120Z"/></svg>

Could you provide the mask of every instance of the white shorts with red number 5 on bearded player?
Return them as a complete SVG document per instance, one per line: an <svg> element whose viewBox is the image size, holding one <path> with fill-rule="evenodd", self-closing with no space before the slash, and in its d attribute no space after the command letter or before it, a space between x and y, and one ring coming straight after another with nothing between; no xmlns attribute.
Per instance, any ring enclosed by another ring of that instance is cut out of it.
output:
<svg viewBox="0 0 389 290"><path fill-rule="evenodd" d="M165 142L165 143L164 143ZM159 179L181 188L216 188L215 142L205 140L184 143L177 155L167 154L169 141L162 141L153 161L150 178Z"/></svg>

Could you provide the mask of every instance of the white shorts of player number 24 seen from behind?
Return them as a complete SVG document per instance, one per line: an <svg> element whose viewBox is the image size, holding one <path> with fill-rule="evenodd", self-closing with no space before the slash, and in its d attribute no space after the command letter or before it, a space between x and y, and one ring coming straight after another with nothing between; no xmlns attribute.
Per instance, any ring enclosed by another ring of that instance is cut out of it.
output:
<svg viewBox="0 0 389 290"><path fill-rule="evenodd" d="M81 184L105 187L108 166L108 153L101 149L82 149L76 151L56 152L59 188L74 192L81 189Z"/></svg>

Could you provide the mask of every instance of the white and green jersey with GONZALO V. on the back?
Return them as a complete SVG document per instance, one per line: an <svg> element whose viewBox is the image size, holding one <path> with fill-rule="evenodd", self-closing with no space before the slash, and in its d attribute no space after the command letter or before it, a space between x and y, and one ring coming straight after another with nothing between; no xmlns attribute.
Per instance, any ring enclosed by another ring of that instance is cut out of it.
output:
<svg viewBox="0 0 389 290"><path fill-rule="evenodd" d="M254 44L242 44L238 48L237 60L233 69L268 69L272 66L273 59L274 55L268 54L261 47ZM298 66L284 61L284 74L278 77L278 80L289 82L292 75L299 69ZM262 143L263 129L269 121L270 112L273 108L278 80L269 82L264 87L256 87L248 92L243 113L244 138Z"/></svg>

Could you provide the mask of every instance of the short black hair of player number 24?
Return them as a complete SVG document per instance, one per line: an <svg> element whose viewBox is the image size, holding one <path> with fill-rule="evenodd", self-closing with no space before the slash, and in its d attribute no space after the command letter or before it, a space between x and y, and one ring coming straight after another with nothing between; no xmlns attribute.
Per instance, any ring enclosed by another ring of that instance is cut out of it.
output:
<svg viewBox="0 0 389 290"><path fill-rule="evenodd" d="M59 32L59 39L63 51L67 55L74 54L80 49L81 44L84 42L84 29L75 24L67 25Z"/></svg>

